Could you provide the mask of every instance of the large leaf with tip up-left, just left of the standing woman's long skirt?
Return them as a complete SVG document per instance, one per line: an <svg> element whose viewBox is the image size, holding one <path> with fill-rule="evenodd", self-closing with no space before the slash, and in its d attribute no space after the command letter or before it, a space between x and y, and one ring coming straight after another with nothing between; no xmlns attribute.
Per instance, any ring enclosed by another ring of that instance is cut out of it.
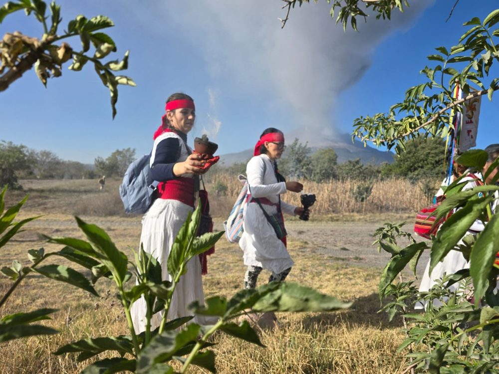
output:
<svg viewBox="0 0 499 374"><path fill-rule="evenodd" d="M117 281L123 283L127 273L128 258L123 252L120 252L111 241L106 232L94 224L88 224L78 217L76 222L80 229L85 233L88 240L92 243L94 251L99 260L113 273Z"/></svg>

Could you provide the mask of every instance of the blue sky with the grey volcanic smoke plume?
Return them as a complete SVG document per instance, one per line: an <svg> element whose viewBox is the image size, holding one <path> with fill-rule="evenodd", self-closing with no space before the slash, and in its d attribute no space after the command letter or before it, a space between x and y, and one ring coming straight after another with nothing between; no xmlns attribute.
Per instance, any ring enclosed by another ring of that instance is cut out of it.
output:
<svg viewBox="0 0 499 374"><path fill-rule="evenodd" d="M284 29L279 0L61 0L63 21L77 14L109 16L103 30L121 58L130 50L128 75L137 87L119 87L118 114L93 67L63 67L47 88L28 71L0 93L0 140L50 150L64 160L93 163L116 149L148 153L166 98L186 92L196 102L192 139L207 132L218 154L252 148L269 126L303 139L350 133L360 115L386 111L422 81L426 56L457 44L473 16L484 18L498 0L412 0L391 21L369 19L343 32L326 1L290 13ZM147 4L147 5L145 5ZM23 12L11 14L0 32L41 36L41 25ZM69 39L79 48L78 39ZM494 102L482 102L478 147L499 143Z"/></svg>

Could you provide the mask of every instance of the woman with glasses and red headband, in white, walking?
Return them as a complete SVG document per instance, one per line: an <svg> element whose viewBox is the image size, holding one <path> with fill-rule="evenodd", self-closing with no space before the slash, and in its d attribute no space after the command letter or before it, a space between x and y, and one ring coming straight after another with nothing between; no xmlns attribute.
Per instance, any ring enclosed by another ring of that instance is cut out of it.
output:
<svg viewBox="0 0 499 374"><path fill-rule="evenodd" d="M284 149L282 132L268 128L261 134L254 147L254 157L246 167L250 200L244 216L244 233L239 241L247 266L244 278L246 289L256 286L262 269L272 272L269 282L282 282L293 265L286 249L282 212L300 215L304 209L281 201L280 194L287 190L300 192L303 185L286 182L277 172L276 160Z"/></svg>

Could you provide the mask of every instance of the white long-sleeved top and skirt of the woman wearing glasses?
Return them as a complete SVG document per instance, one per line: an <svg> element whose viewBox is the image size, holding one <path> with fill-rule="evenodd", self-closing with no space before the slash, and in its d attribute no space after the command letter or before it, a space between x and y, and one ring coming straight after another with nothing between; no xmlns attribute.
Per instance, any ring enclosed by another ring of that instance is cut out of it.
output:
<svg viewBox="0 0 499 374"><path fill-rule="evenodd" d="M253 197L266 197L272 203L278 203L279 194L286 192L285 182L277 182L273 162L265 154L251 158L246 174ZM269 215L277 212L276 206L267 204L261 206ZM294 215L295 208L294 205L281 200L282 212ZM246 206L243 229L239 246L244 251L245 265L259 266L275 274L293 266L293 260L284 243L277 238L274 229L256 202L249 202Z"/></svg>

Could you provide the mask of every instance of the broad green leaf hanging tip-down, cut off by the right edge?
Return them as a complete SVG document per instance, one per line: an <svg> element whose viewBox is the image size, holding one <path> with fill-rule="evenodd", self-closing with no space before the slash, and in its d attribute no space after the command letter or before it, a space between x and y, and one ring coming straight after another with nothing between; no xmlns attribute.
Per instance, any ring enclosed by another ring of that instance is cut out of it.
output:
<svg viewBox="0 0 499 374"><path fill-rule="evenodd" d="M470 275L475 287L475 304L478 305L488 286L496 253L499 249L499 215L494 214L478 235L470 256Z"/></svg>

